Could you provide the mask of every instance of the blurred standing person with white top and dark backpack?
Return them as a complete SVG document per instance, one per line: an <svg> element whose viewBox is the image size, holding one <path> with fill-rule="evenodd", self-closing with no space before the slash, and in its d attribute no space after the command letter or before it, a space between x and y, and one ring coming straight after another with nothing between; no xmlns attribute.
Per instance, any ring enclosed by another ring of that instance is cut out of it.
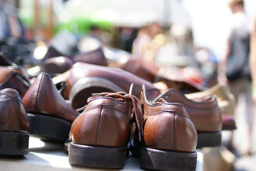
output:
<svg viewBox="0 0 256 171"><path fill-rule="evenodd" d="M233 13L231 18L231 29L227 40L224 59L219 65L219 82L229 86L231 93L238 103L241 95L245 96L246 119L248 125L249 141L246 154L251 153L251 131L252 123L252 99L251 79L249 68L250 31L245 14L243 0L231 0L229 7ZM234 149L233 134L231 135L229 148Z"/></svg>

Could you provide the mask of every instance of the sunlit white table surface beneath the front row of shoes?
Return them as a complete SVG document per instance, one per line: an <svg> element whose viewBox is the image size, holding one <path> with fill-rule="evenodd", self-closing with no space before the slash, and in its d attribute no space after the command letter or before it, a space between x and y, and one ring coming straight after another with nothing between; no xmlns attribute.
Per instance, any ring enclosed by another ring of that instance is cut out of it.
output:
<svg viewBox="0 0 256 171"><path fill-rule="evenodd" d="M202 150L197 149L198 162L196 170L203 170ZM64 150L63 144L41 141L30 137L29 154L18 157L0 156L0 170L118 170L118 169L100 169L78 167L70 165L68 162L68 153ZM139 159L127 158L125 166L120 170L142 170L139 165Z"/></svg>

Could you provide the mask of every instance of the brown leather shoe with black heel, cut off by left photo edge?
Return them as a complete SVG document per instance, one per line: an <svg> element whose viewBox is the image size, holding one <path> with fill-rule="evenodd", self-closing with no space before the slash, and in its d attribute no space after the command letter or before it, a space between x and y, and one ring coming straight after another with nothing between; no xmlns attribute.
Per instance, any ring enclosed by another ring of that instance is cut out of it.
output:
<svg viewBox="0 0 256 171"><path fill-rule="evenodd" d="M0 154L24 155L29 152L29 119L18 92L0 91Z"/></svg>

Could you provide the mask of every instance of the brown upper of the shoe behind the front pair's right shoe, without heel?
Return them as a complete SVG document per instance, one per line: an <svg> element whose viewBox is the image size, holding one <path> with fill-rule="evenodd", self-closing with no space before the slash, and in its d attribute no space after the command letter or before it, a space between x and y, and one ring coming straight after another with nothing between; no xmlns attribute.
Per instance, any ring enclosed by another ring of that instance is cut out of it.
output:
<svg viewBox="0 0 256 171"><path fill-rule="evenodd" d="M187 99L178 89L170 88L154 101L160 98L183 104L197 132L217 132L222 129L222 113L215 96L195 101Z"/></svg>

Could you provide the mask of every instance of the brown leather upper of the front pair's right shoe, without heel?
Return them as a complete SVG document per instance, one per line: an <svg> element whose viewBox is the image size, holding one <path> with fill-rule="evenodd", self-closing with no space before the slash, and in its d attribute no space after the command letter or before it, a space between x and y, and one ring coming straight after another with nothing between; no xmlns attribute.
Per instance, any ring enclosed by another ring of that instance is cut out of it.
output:
<svg viewBox="0 0 256 171"><path fill-rule="evenodd" d="M194 152L197 133L182 104L149 104L144 86L141 103L144 107L145 146L160 150Z"/></svg>

